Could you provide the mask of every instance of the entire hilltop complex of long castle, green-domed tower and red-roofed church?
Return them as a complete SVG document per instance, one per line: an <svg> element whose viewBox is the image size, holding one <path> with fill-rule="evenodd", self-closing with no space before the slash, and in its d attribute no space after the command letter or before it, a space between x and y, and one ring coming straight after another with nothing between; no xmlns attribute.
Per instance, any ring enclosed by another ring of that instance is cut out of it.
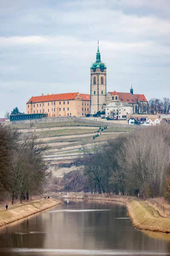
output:
<svg viewBox="0 0 170 256"><path fill-rule="evenodd" d="M94 115L98 111L106 110L106 106L111 102L126 102L133 107L133 113L147 113L148 102L144 94L118 93L116 91L106 91L106 70L107 67L101 61L99 52L99 41L96 52L96 61L91 64L91 88L90 94L83 93L60 93L32 96L26 103L27 114L43 113L48 117L54 116L82 116ZM113 104L112 104L113 105ZM119 105L119 104L118 104ZM125 104L124 104L125 105ZM113 107L113 106L112 106ZM109 107L110 108L110 107ZM113 107L114 108L114 107ZM107 115L108 114L108 111ZM124 111L127 113L127 111ZM125 113L122 112L122 116Z"/></svg>

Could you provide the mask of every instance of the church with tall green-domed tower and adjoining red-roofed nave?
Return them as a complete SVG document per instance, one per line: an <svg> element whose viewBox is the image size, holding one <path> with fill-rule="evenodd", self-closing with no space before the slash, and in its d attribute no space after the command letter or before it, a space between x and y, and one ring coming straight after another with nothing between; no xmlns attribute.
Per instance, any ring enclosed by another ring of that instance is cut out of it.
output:
<svg viewBox="0 0 170 256"><path fill-rule="evenodd" d="M133 113L147 113L148 102L144 94L133 94L133 88L130 93L106 92L106 69L101 62L101 56L98 49L96 52L96 61L91 65L91 105L90 114L94 115L98 111L105 110L111 102L124 102L132 105ZM106 111L107 112L107 111ZM108 112L107 112L108 113ZM107 116L107 115L106 115Z"/></svg>

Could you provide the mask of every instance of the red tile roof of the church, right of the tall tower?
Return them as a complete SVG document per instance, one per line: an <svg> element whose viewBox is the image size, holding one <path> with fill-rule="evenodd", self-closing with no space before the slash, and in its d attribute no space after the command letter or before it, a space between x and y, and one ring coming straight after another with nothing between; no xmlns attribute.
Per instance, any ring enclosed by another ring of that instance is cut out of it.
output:
<svg viewBox="0 0 170 256"><path fill-rule="evenodd" d="M136 99L139 99L139 101L141 102L147 102L147 99L143 94L132 95L131 93L117 93L116 91L114 91L113 93L111 93L111 95L118 95L119 100L121 100L122 102L136 103Z"/></svg>

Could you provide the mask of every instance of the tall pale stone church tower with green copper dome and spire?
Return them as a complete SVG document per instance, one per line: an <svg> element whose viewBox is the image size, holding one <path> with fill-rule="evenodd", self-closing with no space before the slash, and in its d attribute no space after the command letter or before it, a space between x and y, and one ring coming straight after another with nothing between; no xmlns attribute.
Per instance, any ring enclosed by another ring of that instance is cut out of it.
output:
<svg viewBox="0 0 170 256"><path fill-rule="evenodd" d="M105 105L103 104L105 104L106 96L106 69L105 64L101 62L98 41L96 61L91 65L91 115L105 109Z"/></svg>

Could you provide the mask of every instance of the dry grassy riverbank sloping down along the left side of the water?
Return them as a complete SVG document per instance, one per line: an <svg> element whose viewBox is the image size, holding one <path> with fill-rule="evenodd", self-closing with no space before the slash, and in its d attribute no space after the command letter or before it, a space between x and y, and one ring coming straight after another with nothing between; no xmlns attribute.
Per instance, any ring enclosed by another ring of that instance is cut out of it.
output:
<svg viewBox="0 0 170 256"><path fill-rule="evenodd" d="M54 207L57 204L61 204L61 201L47 198L46 200L32 201L28 204L14 205L8 208L8 210L0 210L0 227Z"/></svg>

